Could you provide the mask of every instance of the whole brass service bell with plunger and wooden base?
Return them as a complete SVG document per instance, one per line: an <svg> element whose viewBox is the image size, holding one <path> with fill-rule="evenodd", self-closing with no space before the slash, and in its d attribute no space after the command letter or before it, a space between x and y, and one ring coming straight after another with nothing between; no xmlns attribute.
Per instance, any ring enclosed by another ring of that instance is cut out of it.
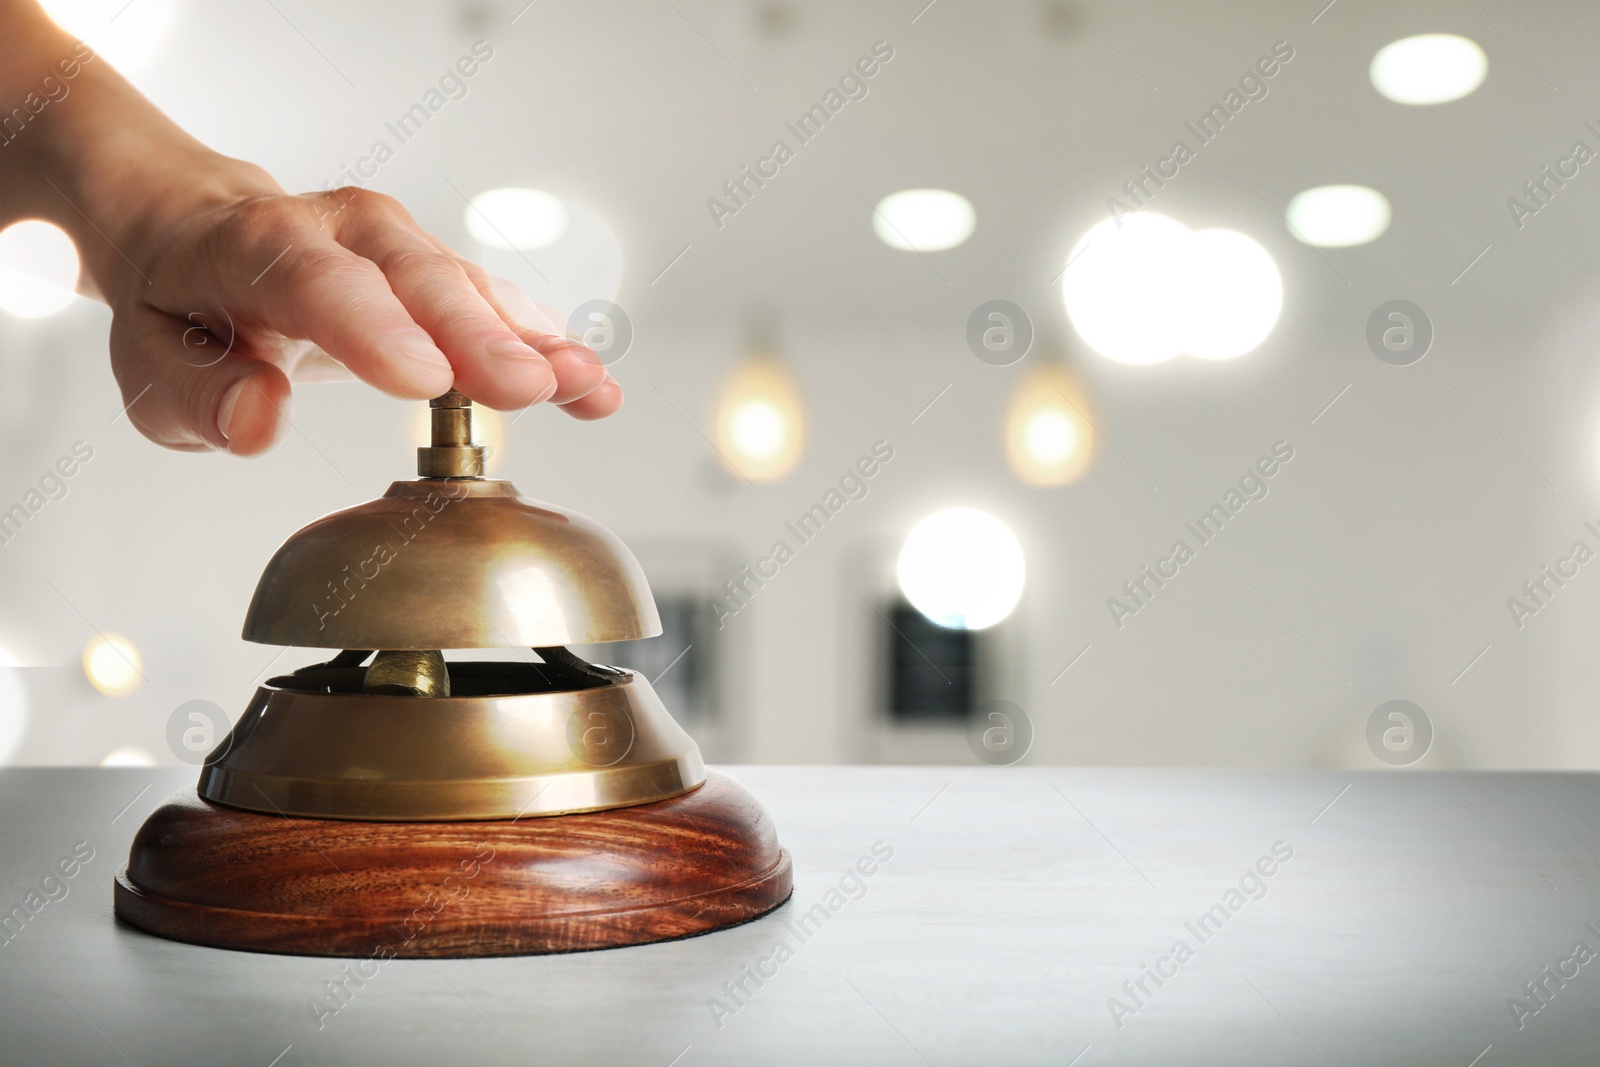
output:
<svg viewBox="0 0 1600 1067"><path fill-rule="evenodd" d="M395 955L638 944L776 907L790 861L760 805L707 774L643 677L568 651L661 633L634 555L483 478L466 397L430 408L416 480L267 563L245 640L338 653L258 688L197 790L150 816L118 915L198 944L365 955L469 846L469 896ZM443 656L482 648L523 651ZM274 853L294 832L298 854Z"/></svg>

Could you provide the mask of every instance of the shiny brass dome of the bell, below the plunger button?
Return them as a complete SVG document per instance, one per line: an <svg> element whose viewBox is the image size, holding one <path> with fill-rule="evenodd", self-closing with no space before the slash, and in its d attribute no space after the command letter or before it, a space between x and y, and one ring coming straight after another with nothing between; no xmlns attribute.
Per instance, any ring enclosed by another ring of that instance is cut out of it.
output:
<svg viewBox="0 0 1600 1067"><path fill-rule="evenodd" d="M661 633L627 545L510 482L395 482L274 553L246 641L299 648L544 648Z"/></svg>

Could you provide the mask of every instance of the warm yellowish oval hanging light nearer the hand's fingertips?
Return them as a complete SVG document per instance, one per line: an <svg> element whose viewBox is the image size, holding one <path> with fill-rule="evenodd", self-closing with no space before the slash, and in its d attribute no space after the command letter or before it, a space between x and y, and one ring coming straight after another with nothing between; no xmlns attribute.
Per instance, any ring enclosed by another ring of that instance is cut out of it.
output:
<svg viewBox="0 0 1600 1067"><path fill-rule="evenodd" d="M778 482L795 469L803 448L800 395L782 363L771 357L739 363L717 408L723 462L750 482Z"/></svg>

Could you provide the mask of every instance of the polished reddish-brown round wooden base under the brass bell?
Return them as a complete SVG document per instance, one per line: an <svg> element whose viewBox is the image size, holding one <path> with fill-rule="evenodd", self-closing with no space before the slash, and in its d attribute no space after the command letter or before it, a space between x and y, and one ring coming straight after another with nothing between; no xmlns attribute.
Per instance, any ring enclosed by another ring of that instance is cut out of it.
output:
<svg viewBox="0 0 1600 1067"><path fill-rule="evenodd" d="M789 853L738 782L634 808L490 822L355 822L158 808L117 915L174 941L326 957L494 957L704 934L789 899Z"/></svg>

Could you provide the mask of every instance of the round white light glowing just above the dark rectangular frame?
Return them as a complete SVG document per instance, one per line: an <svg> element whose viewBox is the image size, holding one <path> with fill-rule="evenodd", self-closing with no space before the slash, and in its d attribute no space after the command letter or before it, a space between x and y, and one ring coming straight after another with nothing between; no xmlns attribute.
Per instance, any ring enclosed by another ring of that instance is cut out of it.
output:
<svg viewBox="0 0 1600 1067"><path fill-rule="evenodd" d="M901 592L950 630L987 630L1022 598L1022 545L1003 522L976 507L928 515L906 536L896 565Z"/></svg>

